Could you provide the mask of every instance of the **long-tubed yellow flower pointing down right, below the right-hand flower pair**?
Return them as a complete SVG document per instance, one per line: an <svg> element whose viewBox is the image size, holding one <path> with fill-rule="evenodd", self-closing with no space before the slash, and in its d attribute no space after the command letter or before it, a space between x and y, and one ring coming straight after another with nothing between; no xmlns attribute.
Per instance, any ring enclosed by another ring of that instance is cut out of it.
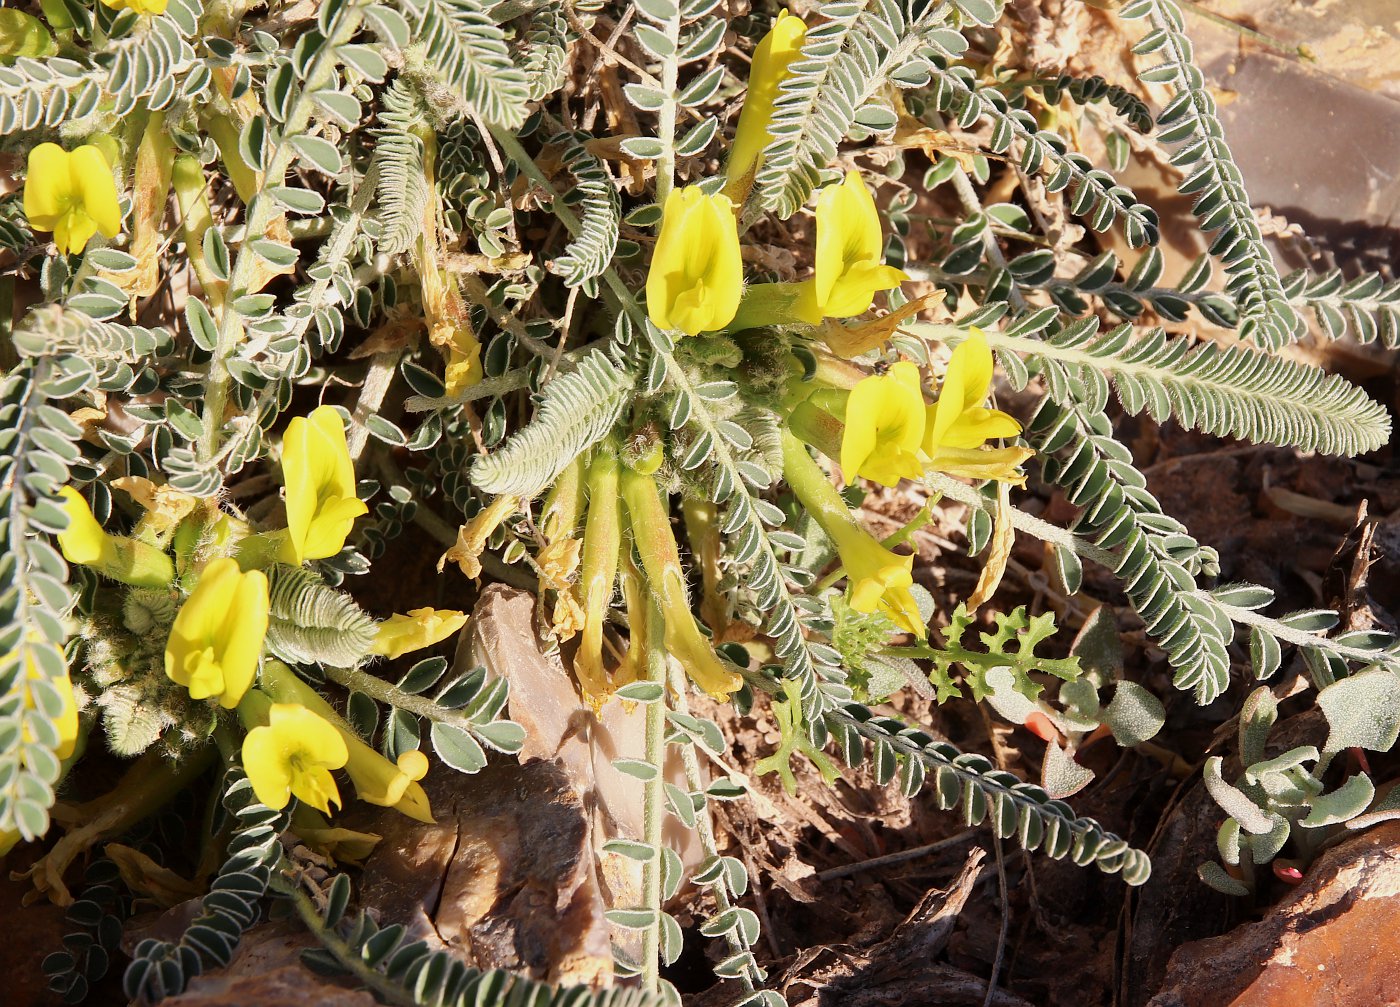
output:
<svg viewBox="0 0 1400 1007"><path fill-rule="evenodd" d="M910 588L914 557L886 549L865 531L846 507L826 473L806 454L806 447L783 431L783 476L798 501L836 543L857 612L883 612L900 629L920 640L928 636Z"/></svg>

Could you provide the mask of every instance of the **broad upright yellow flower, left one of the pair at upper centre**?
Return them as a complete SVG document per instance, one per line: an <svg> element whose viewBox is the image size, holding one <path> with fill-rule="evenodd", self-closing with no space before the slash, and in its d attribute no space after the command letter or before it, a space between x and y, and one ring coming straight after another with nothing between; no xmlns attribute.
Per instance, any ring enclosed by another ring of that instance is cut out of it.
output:
<svg viewBox="0 0 1400 1007"><path fill-rule="evenodd" d="M728 196L672 189L647 273L647 312L661 329L687 336L722 329L739 311L743 263Z"/></svg>

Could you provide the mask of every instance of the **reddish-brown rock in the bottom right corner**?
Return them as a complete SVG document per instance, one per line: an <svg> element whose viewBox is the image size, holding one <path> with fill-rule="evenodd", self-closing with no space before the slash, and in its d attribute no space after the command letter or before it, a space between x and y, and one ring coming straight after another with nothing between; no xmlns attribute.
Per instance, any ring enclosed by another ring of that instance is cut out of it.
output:
<svg viewBox="0 0 1400 1007"><path fill-rule="evenodd" d="M1149 1007L1400 1003L1400 822L1327 852L1257 923L1184 944Z"/></svg>

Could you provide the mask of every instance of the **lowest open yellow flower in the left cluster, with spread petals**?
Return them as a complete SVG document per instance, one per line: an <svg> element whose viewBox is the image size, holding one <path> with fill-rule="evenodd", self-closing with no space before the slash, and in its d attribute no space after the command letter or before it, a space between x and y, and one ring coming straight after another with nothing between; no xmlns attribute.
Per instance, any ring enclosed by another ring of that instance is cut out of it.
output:
<svg viewBox="0 0 1400 1007"><path fill-rule="evenodd" d="M251 693L260 695L260 693ZM267 723L244 738L244 770L258 800L281 811L297 797L322 814L340 807L340 791L330 776L350 758L340 731L304 706L272 703Z"/></svg>

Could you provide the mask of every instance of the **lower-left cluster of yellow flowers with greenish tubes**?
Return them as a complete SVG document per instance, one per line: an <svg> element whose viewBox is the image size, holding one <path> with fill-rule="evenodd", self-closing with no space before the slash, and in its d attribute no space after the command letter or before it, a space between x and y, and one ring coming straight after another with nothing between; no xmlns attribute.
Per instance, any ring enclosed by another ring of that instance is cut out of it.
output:
<svg viewBox="0 0 1400 1007"><path fill-rule="evenodd" d="M431 807L419 784L428 769L423 752L409 749L392 761L378 753L315 689L265 657L273 619L269 574L279 564L335 556L365 513L340 415L329 406L291 420L281 472L287 527L266 532L255 532L214 501L137 480L127 489L147 515L132 535L115 535L76 489L64 487L60 506L67 527L59 532L59 548L70 563L105 578L183 595L168 622L164 672L190 700L237 710L246 728L244 769L263 804L283 808L295 797L329 814L340 804L333 773L343 769L360 800L430 822ZM171 546L174 556L167 552ZM431 608L393 615L378 625L364 658L396 658L428 647L465 622L462 612ZM35 689L53 683L43 678ZM66 758L77 734L77 707L67 681L55 685L66 693L56 721L63 735L59 758Z"/></svg>

